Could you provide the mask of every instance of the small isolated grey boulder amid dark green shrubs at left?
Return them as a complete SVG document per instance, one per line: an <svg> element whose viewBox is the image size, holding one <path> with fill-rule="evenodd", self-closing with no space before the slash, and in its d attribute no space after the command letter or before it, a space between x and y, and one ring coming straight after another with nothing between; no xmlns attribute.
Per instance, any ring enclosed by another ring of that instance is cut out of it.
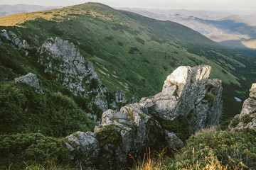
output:
<svg viewBox="0 0 256 170"><path fill-rule="evenodd" d="M36 88L36 92L38 92L39 94L43 94L42 89L40 89L39 87L39 81L36 74L28 73L25 76L15 78L14 81L15 83L22 82L28 84L29 86Z"/></svg>

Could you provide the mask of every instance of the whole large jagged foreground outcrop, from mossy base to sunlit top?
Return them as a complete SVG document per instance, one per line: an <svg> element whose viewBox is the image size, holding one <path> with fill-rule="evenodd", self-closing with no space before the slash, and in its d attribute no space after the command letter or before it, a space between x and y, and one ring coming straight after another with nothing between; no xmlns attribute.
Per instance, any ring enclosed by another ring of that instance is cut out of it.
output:
<svg viewBox="0 0 256 170"><path fill-rule="evenodd" d="M100 146L99 161L85 164L119 169L127 163L128 154L137 157L145 147L178 149L196 130L218 125L222 86L220 80L208 79L209 74L206 65L178 67L167 77L161 93L120 111L103 113L94 132ZM68 139L66 145L70 142Z"/></svg>

